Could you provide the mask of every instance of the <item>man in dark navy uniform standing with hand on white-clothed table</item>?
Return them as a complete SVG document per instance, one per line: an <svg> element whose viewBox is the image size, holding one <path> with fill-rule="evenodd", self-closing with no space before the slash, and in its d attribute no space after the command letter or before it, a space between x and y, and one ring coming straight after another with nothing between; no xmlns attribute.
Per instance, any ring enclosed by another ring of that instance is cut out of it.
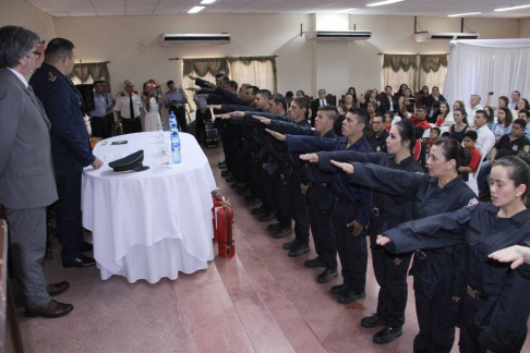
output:
<svg viewBox="0 0 530 353"><path fill-rule="evenodd" d="M98 169L103 162L91 151L81 94L68 76L74 65L73 44L62 38L52 39L45 56L45 63L29 84L51 122L51 151L59 193L55 211L62 266L93 266L94 258L82 254L91 251L92 244L83 240L81 178L84 167Z"/></svg>

